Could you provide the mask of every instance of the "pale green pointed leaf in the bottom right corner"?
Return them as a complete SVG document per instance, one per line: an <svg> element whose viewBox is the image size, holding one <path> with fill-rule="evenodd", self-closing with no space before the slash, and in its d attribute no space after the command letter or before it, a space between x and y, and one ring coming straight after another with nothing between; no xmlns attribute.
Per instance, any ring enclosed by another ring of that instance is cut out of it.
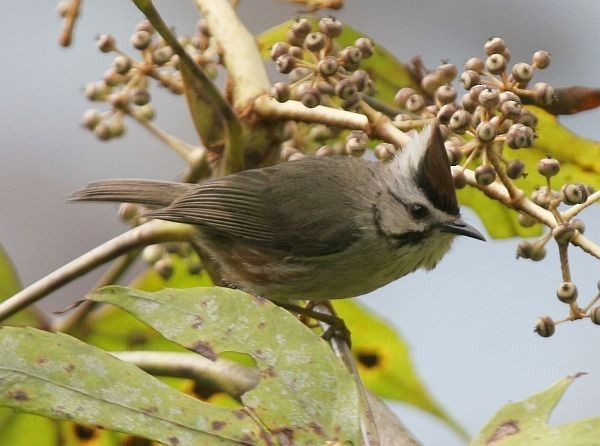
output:
<svg viewBox="0 0 600 446"><path fill-rule="evenodd" d="M581 374L567 376L532 397L503 406L470 446L598 446L600 417L561 426L547 424L567 387Z"/></svg>

